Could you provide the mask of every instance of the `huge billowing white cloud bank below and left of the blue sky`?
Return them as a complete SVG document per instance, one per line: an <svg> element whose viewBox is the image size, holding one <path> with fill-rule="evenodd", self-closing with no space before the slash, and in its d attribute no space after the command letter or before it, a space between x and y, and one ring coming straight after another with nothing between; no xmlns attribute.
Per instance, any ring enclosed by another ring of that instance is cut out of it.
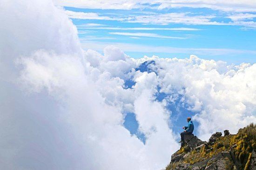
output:
<svg viewBox="0 0 256 170"><path fill-rule="evenodd" d="M167 107L177 100L203 139L256 122L256 64L83 51L50 0L3 0L0 14L0 169L161 169L179 147ZM145 144L123 126L126 113Z"/></svg>

